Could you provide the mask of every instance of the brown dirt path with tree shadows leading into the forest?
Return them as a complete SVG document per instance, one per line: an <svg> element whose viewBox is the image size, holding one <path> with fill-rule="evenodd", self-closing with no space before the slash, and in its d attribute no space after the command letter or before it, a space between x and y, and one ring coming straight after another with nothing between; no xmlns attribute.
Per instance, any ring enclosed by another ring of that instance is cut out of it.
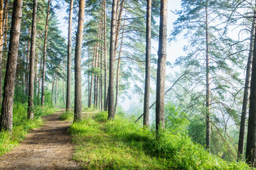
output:
<svg viewBox="0 0 256 170"><path fill-rule="evenodd" d="M19 147L0 157L0 169L80 169L71 160L70 123L58 120L61 113L44 116L45 126L31 130Z"/></svg>

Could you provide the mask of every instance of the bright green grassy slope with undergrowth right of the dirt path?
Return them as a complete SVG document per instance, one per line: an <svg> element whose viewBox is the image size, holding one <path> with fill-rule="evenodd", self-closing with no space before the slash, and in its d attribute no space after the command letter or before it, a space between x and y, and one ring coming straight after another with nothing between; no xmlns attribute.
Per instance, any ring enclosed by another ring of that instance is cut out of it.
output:
<svg viewBox="0 0 256 170"><path fill-rule="evenodd" d="M161 132L156 140L153 130L118 115L107 121L107 113L97 113L73 123L70 132L73 159L84 169L249 169L209 154L186 135Z"/></svg>

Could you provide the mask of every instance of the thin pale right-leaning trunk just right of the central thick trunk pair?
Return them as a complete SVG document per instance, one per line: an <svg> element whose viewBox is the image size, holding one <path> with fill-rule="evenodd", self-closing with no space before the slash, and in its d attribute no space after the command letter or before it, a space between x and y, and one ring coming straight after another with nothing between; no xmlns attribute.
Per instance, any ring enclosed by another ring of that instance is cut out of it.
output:
<svg viewBox="0 0 256 170"><path fill-rule="evenodd" d="M123 39L124 39L124 26L125 26L126 15L127 15L127 13L125 12L122 39L121 39L121 45L120 45L120 49L119 49L119 57L117 59L117 61L118 61L117 62L117 86L116 86L116 101L114 104L114 113L115 114L117 114L118 95L119 95L119 72L120 72L120 64L121 64L122 44L123 44Z"/></svg>

